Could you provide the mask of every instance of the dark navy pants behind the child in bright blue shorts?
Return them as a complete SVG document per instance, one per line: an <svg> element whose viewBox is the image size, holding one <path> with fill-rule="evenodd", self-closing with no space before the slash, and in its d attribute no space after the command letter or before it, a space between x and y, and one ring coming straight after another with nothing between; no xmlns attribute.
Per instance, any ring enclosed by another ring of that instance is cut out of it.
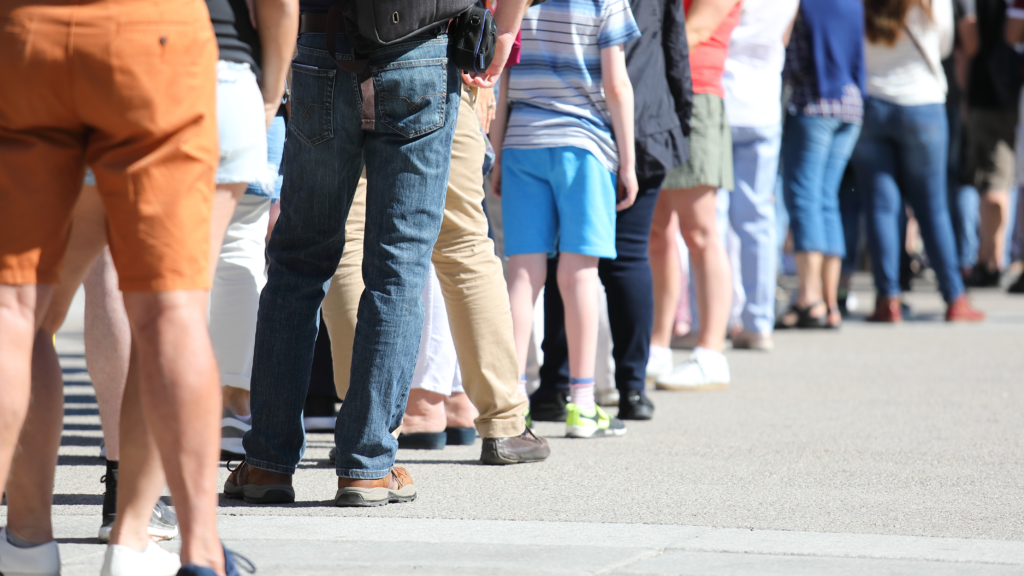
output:
<svg viewBox="0 0 1024 576"><path fill-rule="evenodd" d="M621 392L642 390L654 329L654 282L647 248L658 190L665 176L640 180L636 202L615 219L615 259L601 258L598 276L608 295L611 356L615 359L615 386ZM544 366L541 387L532 399L548 399L569 389L569 354L565 341L565 308L558 291L558 257L548 260L544 290Z"/></svg>

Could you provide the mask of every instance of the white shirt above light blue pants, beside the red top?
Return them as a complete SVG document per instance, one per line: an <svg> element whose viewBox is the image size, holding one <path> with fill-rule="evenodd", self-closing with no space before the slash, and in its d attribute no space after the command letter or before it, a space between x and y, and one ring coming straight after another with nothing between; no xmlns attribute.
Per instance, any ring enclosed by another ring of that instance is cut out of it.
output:
<svg viewBox="0 0 1024 576"><path fill-rule="evenodd" d="M800 0L744 0L725 60L725 113L731 126L774 126L782 121L782 36Z"/></svg>

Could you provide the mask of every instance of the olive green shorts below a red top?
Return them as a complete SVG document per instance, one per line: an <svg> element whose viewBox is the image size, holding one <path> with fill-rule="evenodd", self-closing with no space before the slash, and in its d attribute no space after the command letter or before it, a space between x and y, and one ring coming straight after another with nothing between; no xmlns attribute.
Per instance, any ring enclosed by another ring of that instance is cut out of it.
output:
<svg viewBox="0 0 1024 576"><path fill-rule="evenodd" d="M699 186L733 188L732 133L725 117L725 100L712 94L693 94L690 157L669 172L662 190Z"/></svg>

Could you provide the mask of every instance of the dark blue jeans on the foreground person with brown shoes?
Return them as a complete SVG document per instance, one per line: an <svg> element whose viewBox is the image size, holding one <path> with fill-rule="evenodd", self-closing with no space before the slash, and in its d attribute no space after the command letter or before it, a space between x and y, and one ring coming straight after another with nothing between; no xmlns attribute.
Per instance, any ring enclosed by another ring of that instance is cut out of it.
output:
<svg viewBox="0 0 1024 576"><path fill-rule="evenodd" d="M462 81L443 36L372 52L375 101L368 120L356 75L335 65L324 38L302 35L292 64L282 213L267 248L253 428L244 446L250 464L282 474L294 474L302 457L318 310L345 247L345 220L365 162L366 290L335 442L339 477L378 479L391 469L398 448L391 431L401 421L416 365L421 294L444 211ZM344 35L337 49L339 59L351 59Z"/></svg>

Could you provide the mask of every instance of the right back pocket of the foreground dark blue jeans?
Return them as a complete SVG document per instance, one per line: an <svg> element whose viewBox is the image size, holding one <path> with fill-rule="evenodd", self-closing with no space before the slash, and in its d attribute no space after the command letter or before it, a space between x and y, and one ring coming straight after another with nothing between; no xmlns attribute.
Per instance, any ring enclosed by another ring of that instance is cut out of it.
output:
<svg viewBox="0 0 1024 576"><path fill-rule="evenodd" d="M378 119L412 138L444 125L447 58L399 60L374 68Z"/></svg>

